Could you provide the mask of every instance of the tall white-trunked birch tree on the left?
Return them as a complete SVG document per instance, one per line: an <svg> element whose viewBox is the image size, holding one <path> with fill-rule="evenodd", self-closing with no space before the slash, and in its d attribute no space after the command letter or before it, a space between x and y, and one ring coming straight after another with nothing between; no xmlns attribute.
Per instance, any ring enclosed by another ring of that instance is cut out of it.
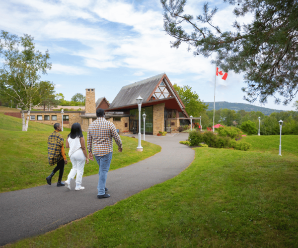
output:
<svg viewBox="0 0 298 248"><path fill-rule="evenodd" d="M0 35L0 87L21 108L23 131L28 129L32 108L41 102L41 74L52 66L48 50L42 54L33 40L30 35L18 37L3 30Z"/></svg>

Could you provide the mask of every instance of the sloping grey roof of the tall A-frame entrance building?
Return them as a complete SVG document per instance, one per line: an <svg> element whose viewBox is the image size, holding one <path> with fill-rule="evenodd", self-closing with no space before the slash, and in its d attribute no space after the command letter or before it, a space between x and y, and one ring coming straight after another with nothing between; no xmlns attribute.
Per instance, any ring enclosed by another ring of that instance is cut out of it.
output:
<svg viewBox="0 0 298 248"><path fill-rule="evenodd" d="M157 83L165 73L149 77L139 82L135 82L126 86L123 86L119 91L113 102L111 103L110 108L117 106L131 105L137 103L137 98L141 96L146 101L153 90L155 89Z"/></svg>

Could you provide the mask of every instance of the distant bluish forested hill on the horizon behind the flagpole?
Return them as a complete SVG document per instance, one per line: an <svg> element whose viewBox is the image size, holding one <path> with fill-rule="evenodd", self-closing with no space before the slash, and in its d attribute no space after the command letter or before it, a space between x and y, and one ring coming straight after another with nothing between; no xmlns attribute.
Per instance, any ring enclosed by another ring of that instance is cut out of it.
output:
<svg viewBox="0 0 298 248"><path fill-rule="evenodd" d="M213 110L214 102L205 102L209 104L208 110ZM228 103L228 102L215 102L215 110L219 109L230 109L230 110L245 110L247 112L249 111L260 111L264 115L270 115L273 112L281 112L283 110L277 110L277 109L269 109L264 107L259 107L251 104L246 103Z"/></svg>

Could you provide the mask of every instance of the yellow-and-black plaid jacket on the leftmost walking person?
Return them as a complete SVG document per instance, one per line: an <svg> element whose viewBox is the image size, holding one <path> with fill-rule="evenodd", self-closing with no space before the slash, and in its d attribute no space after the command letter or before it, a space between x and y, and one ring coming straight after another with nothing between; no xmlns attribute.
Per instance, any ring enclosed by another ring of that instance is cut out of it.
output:
<svg viewBox="0 0 298 248"><path fill-rule="evenodd" d="M48 138L48 159L50 165L55 165L63 159L61 147L63 146L64 139L62 135L54 131Z"/></svg>

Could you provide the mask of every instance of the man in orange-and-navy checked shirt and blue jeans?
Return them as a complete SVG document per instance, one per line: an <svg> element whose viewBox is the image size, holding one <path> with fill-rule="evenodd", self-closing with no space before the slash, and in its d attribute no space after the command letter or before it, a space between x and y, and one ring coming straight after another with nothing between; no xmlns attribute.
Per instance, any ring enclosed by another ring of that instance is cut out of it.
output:
<svg viewBox="0 0 298 248"><path fill-rule="evenodd" d="M122 152L122 142L115 125L105 119L104 110L97 109L96 116L97 119L88 127L87 148L89 160L93 161L94 155L99 166L97 198L101 199L110 197L109 194L105 193L108 191L105 184L113 155L113 138L118 145L119 152Z"/></svg>

